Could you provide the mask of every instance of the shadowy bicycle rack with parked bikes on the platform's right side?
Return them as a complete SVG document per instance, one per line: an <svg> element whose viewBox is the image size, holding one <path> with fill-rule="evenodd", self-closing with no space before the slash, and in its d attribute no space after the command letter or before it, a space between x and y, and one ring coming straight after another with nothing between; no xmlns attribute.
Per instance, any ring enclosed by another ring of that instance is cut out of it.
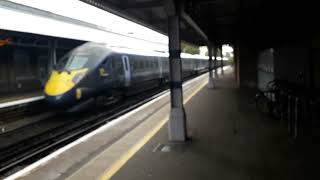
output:
<svg viewBox="0 0 320 180"><path fill-rule="evenodd" d="M316 130L313 123L320 128L317 119L320 116L320 99L316 100L315 92L286 81L273 80L268 83L264 93L272 113L276 113L274 117L287 123L288 136L292 140L296 141Z"/></svg>

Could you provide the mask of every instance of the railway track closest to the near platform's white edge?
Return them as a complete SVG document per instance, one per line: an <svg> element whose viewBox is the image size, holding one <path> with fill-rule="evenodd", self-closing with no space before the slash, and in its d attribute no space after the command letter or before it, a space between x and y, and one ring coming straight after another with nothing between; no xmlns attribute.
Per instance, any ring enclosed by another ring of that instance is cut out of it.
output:
<svg viewBox="0 0 320 180"><path fill-rule="evenodd" d="M124 102L99 108L90 113L81 113L76 117L59 115L50 117L47 121L57 121L59 119L59 122L62 120L66 123L0 149L0 178L22 169L118 116L155 99L163 94L163 91L167 88L166 86L157 90L150 90L148 93L144 92L139 96L129 97Z"/></svg>

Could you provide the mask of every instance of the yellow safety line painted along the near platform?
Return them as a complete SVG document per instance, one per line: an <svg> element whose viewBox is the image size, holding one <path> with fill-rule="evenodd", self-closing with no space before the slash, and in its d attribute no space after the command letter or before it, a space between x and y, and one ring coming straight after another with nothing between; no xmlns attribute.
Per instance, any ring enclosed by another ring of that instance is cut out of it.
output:
<svg viewBox="0 0 320 180"><path fill-rule="evenodd" d="M202 83L190 96L188 96L184 104L186 104L195 94L197 94L207 82ZM154 127L151 131L149 131L140 141L138 141L134 146L132 146L123 156L121 156L111 168L107 169L103 175L100 177L101 180L110 179L136 152L138 152L141 147L143 147L161 128L162 126L169 120L169 116L163 118L160 123Z"/></svg>

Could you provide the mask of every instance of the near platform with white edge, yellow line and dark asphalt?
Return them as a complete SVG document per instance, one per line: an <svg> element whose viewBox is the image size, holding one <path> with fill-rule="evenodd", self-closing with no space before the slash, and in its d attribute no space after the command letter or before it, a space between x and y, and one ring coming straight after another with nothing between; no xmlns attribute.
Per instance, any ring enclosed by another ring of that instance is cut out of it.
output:
<svg viewBox="0 0 320 180"><path fill-rule="evenodd" d="M166 93L7 179L316 179L319 145L290 144L232 75L184 84L186 143L168 142Z"/></svg>

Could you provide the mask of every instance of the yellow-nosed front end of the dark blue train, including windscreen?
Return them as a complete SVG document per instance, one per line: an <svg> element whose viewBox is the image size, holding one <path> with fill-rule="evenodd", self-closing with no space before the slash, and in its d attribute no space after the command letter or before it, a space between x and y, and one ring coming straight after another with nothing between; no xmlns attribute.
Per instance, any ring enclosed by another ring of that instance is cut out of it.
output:
<svg viewBox="0 0 320 180"><path fill-rule="evenodd" d="M94 92L91 72L106 56L105 48L85 43L59 60L44 89L45 100L57 108L84 103Z"/></svg>

